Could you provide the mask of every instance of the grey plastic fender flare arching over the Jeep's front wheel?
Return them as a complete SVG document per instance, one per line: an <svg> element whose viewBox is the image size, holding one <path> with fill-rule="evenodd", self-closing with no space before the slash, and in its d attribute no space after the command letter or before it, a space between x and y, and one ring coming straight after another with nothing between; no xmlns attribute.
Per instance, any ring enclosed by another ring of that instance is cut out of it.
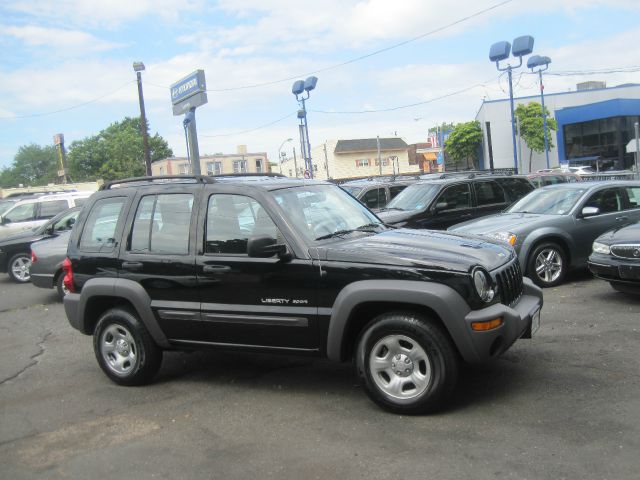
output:
<svg viewBox="0 0 640 480"><path fill-rule="evenodd" d="M475 357L475 349L464 321L470 309L455 290L432 282L363 280L347 285L333 304L327 336L327 356L330 360L345 360L345 332L351 312L358 305L369 302L414 304L433 310L442 320L462 356Z"/></svg>

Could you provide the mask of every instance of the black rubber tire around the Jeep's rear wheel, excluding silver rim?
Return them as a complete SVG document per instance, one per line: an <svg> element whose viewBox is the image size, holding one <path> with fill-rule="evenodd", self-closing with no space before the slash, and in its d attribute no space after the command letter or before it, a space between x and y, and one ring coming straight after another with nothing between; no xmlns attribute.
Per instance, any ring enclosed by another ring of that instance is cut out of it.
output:
<svg viewBox="0 0 640 480"><path fill-rule="evenodd" d="M136 366L126 376L113 372L100 351L100 339L103 332L114 324L126 328L136 344L138 353ZM132 311L125 308L113 308L100 317L93 333L93 349L100 368L113 382L119 385L134 386L148 383L158 371L162 361L162 351L153 342L142 322Z"/></svg>

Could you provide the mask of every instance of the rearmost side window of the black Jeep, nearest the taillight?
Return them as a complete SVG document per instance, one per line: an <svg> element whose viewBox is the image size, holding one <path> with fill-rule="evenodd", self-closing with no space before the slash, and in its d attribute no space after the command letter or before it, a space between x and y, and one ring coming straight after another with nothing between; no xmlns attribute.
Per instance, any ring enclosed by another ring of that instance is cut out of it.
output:
<svg viewBox="0 0 640 480"><path fill-rule="evenodd" d="M116 246L115 232L126 197L110 197L98 200L87 217L80 237L80 250L105 252Z"/></svg>

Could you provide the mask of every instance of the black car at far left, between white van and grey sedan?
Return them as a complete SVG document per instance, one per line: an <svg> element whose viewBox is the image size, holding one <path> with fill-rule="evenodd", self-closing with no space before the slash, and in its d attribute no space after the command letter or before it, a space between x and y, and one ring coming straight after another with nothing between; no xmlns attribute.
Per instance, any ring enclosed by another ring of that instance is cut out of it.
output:
<svg viewBox="0 0 640 480"><path fill-rule="evenodd" d="M73 226L81 207L72 207L60 212L47 223L0 240L0 272L8 273L17 283L31 279L31 244L69 230Z"/></svg>

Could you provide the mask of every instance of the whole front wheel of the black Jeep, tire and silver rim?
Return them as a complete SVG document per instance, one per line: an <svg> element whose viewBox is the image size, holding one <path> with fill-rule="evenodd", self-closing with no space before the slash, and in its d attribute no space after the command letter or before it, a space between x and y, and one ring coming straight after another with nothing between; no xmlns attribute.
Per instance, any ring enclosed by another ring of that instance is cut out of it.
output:
<svg viewBox="0 0 640 480"><path fill-rule="evenodd" d="M439 325L406 312L375 318L356 350L357 374L369 398L402 414L438 409L456 385L458 362L452 341Z"/></svg>

